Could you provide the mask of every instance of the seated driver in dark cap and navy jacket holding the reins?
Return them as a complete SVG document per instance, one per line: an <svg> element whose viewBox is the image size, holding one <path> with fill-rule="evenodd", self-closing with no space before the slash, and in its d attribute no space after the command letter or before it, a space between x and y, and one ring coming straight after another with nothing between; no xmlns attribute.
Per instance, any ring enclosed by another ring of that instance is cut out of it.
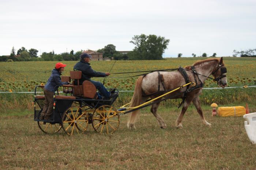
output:
<svg viewBox="0 0 256 170"><path fill-rule="evenodd" d="M104 85L101 82L91 80L91 77L105 77L109 76L110 73L95 72L91 68L89 63L91 55L87 53L82 53L80 55L80 58L81 60L74 66L74 70L82 72L82 78L79 80L79 84L83 84L83 81L89 80L95 85L99 92L101 92L101 94L105 97L106 100L116 96L117 93L108 92L108 90L104 87Z"/></svg>

